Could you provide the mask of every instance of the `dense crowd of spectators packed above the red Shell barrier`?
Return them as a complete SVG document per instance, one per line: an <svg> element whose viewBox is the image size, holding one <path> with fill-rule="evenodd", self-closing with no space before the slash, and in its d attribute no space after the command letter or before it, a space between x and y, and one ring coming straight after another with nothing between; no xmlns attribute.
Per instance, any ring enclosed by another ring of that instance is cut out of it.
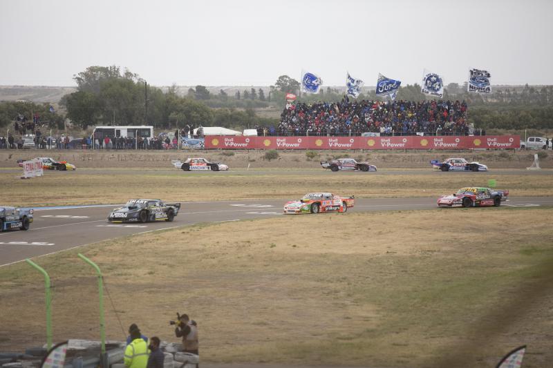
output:
<svg viewBox="0 0 553 368"><path fill-rule="evenodd" d="M288 104L277 135L469 135L465 101L356 101Z"/></svg>

